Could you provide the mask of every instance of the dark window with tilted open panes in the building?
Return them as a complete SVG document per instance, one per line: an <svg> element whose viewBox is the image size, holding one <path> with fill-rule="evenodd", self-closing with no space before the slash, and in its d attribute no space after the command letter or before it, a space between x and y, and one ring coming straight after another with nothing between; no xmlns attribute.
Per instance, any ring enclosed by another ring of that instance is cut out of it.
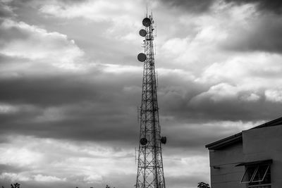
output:
<svg viewBox="0 0 282 188"><path fill-rule="evenodd" d="M270 164L246 165L240 183L247 183L250 188L270 188Z"/></svg>

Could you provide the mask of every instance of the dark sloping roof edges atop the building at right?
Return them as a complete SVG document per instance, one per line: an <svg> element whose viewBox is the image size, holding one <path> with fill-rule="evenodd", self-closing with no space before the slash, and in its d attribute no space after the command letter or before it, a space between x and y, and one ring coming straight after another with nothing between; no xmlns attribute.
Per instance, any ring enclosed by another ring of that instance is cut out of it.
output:
<svg viewBox="0 0 282 188"><path fill-rule="evenodd" d="M259 129L259 128L262 128L262 127L272 127L272 126L276 126L276 125L282 125L282 117L277 118L275 120L271 120L271 121L264 123L262 125L258 125L257 127L252 127L250 130ZM207 144L206 148L207 149L214 149L214 150L223 149L224 147L229 146L231 144L235 144L237 142L242 142L242 139L243 139L242 132L239 132L237 134L233 134L230 137L226 137L226 138L220 139L216 142L212 142L211 144Z"/></svg>

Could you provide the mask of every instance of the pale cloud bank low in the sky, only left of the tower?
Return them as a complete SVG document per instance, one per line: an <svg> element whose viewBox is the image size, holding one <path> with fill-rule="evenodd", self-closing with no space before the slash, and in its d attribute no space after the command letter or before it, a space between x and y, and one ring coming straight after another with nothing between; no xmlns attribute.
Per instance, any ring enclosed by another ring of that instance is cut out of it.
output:
<svg viewBox="0 0 282 188"><path fill-rule="evenodd" d="M23 140L22 140L23 139ZM11 149L17 151L20 158L25 160L15 160L10 158L12 166L19 168L1 168L0 182L19 181L23 186L32 183L46 184L46 182L64 182L70 184L95 184L101 187L104 182L115 180L118 173L130 174L135 172L133 160L133 150L113 149L111 146L101 146L94 142L75 143L56 139L38 139L34 137L23 137L13 135L8 137L8 142L1 144L1 149ZM34 153L32 157L25 155L22 150ZM1 152L2 158L8 158L11 153ZM42 155L44 153L44 155ZM6 161L0 159L1 163ZM37 161L26 163L29 160ZM38 162L40 161L40 162ZM124 164L127 167L119 168ZM66 165L68 166L66 168ZM109 171L108 169L112 170ZM111 180L107 177L111 174Z"/></svg>

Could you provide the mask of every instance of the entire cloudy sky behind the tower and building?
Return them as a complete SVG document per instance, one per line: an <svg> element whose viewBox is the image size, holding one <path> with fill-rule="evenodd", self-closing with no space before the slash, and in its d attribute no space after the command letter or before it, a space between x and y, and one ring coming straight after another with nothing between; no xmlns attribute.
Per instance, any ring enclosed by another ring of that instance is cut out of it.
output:
<svg viewBox="0 0 282 188"><path fill-rule="evenodd" d="M0 2L0 185L133 187L146 6L167 187L209 182L205 144L281 115L280 0Z"/></svg>

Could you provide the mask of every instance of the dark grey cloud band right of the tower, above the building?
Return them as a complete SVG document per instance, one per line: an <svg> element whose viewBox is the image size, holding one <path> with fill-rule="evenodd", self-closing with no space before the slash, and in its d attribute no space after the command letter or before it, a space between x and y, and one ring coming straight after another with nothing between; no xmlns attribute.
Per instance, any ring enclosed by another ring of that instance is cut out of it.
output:
<svg viewBox="0 0 282 188"><path fill-rule="evenodd" d="M219 93L199 97L212 87L207 83L184 81L177 75L173 75L173 79L171 75L159 77L159 82L160 114L173 116L181 123L207 123L212 120L255 121L278 118L281 115L281 104L266 100L264 89L257 92L257 101L247 101L246 98L252 95L252 91L241 91L226 99L223 94L215 101L212 96L220 95Z"/></svg>

